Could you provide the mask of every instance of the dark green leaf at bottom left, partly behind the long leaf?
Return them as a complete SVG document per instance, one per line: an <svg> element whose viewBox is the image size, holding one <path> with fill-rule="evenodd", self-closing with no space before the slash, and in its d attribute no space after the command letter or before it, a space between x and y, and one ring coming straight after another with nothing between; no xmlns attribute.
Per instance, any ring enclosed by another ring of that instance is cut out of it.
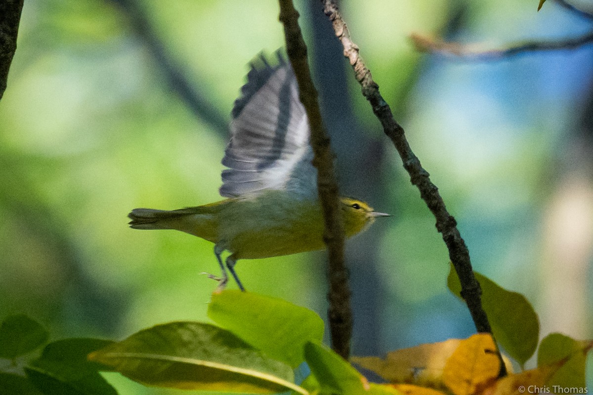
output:
<svg viewBox="0 0 593 395"><path fill-rule="evenodd" d="M98 373L102 365L87 360L88 353L111 343L84 338L50 343L25 372L44 394L116 395L117 391Z"/></svg>

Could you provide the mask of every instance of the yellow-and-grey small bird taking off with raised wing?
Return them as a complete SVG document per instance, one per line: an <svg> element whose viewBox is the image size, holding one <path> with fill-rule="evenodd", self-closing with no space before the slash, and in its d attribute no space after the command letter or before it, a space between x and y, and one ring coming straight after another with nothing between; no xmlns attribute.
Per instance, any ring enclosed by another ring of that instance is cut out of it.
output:
<svg viewBox="0 0 593 395"><path fill-rule="evenodd" d="M173 211L135 208L128 215L130 227L176 229L214 243L222 276L209 277L219 281L217 291L227 285L227 268L245 290L235 272L237 259L325 248L317 170L298 96L294 73L282 56L276 65L263 55L254 60L231 113L231 141L222 159L229 169L222 171L220 194L227 199ZM340 201L346 237L389 215L353 198ZM231 253L225 264L224 251Z"/></svg>

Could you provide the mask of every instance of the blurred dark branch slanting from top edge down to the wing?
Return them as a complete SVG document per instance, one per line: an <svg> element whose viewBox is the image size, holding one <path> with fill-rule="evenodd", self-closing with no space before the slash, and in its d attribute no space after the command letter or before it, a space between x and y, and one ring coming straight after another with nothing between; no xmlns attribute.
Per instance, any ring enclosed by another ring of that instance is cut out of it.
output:
<svg viewBox="0 0 593 395"><path fill-rule="evenodd" d="M221 136L227 136L227 119L222 117L208 98L200 94L200 91L204 91L204 89L197 89L195 84L189 81L186 70L171 56L165 44L158 37L141 2L138 0L110 1L119 5L125 12L131 27L142 39L158 68L167 78L171 90L197 117L218 131Z"/></svg>

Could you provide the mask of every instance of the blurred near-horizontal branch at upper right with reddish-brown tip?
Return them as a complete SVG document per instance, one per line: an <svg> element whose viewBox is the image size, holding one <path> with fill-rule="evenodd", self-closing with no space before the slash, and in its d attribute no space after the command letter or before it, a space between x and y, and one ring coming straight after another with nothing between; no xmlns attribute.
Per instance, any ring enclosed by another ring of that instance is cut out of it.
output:
<svg viewBox="0 0 593 395"><path fill-rule="evenodd" d="M445 42L421 34L412 34L410 39L421 52L429 52L444 56L459 57L467 60L496 60L511 56L554 50L570 50L593 43L593 32L579 37L565 38L557 41L525 41L503 49L480 49L476 44L460 44Z"/></svg>

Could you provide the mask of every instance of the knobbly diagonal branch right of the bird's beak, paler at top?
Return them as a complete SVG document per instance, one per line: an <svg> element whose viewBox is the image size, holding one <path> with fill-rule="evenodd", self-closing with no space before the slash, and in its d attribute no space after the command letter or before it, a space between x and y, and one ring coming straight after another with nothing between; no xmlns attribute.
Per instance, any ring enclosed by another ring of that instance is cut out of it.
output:
<svg viewBox="0 0 593 395"><path fill-rule="evenodd" d="M336 0L322 0L322 2L324 12L333 24L336 36L342 42L344 56L350 61L350 65L352 65L355 72L356 80L362 86L362 94L369 101L373 112L381 121L385 134L387 134L396 147L403 161L403 166L410 175L410 181L413 185L416 185L420 191L420 197L435 216L436 229L441 233L447 245L449 258L461 282L461 297L466 301L477 331L492 334L492 328L482 308L482 288L471 268L470 254L466 243L461 238L457 229L457 221L448 213L445 203L438 192L438 188L432 183L428 172L422 168L420 160L412 152L404 135L403 128L394 119L391 108L379 92L379 86L372 79L371 71L366 68L359 56L358 46L350 40L350 33L338 11ZM500 359L500 375L506 375L505 364L502 362L500 352L498 355Z"/></svg>

